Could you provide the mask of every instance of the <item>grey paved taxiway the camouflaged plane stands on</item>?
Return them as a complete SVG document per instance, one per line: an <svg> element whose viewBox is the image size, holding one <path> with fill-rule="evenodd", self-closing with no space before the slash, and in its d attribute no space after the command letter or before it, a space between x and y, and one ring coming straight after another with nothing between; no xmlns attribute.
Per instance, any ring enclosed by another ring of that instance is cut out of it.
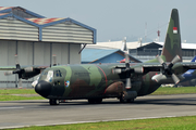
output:
<svg viewBox="0 0 196 130"><path fill-rule="evenodd" d="M58 106L50 106L48 100L12 101L0 102L0 129L191 115L196 115L196 94L148 95L128 104L117 99L102 104L68 101Z"/></svg>

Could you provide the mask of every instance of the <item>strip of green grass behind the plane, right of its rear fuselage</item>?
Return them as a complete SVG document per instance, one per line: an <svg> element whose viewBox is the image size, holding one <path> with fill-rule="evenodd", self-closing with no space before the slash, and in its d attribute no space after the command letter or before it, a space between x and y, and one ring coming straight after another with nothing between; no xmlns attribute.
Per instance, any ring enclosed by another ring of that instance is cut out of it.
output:
<svg viewBox="0 0 196 130"><path fill-rule="evenodd" d="M196 87L181 87L181 88L160 87L157 91L155 91L151 94L163 95L163 94L187 94L187 93L196 93Z"/></svg>

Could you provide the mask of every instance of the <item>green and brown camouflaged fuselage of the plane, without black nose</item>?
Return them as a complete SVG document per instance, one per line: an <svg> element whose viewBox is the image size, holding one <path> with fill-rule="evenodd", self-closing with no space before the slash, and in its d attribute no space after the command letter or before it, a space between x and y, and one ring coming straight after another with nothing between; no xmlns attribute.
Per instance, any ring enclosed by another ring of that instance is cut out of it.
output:
<svg viewBox="0 0 196 130"><path fill-rule="evenodd" d="M51 84L50 92L42 95L47 99L96 99L120 98L125 82L123 74L113 74L112 68L121 64L86 64L71 66L54 66L42 72L39 82L45 80ZM135 64L131 64L135 65ZM53 73L53 77L47 78L48 70L60 72L61 76ZM160 87L160 83L151 81L155 73L145 76L131 75L132 88L137 95L146 95Z"/></svg>

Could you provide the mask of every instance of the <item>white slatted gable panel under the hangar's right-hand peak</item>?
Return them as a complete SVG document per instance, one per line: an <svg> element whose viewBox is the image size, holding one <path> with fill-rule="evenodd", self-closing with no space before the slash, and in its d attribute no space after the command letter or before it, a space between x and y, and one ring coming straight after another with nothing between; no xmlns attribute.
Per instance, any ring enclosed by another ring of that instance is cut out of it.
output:
<svg viewBox="0 0 196 130"><path fill-rule="evenodd" d="M42 41L93 43L93 31L76 24L56 24L42 28Z"/></svg>

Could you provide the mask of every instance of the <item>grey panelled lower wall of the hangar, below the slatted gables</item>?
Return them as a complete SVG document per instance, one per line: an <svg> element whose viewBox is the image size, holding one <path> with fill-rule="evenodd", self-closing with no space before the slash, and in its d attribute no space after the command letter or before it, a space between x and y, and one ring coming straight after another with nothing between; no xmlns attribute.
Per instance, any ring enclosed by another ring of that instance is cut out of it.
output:
<svg viewBox="0 0 196 130"><path fill-rule="evenodd" d="M81 44L57 43L57 42L33 42L0 40L0 66L15 66L14 55L19 55L19 62L23 65L50 65L52 54L57 55L57 63L81 64ZM36 78L22 80L24 88L30 88ZM17 76L4 76L0 70L0 88L14 88Z"/></svg>

